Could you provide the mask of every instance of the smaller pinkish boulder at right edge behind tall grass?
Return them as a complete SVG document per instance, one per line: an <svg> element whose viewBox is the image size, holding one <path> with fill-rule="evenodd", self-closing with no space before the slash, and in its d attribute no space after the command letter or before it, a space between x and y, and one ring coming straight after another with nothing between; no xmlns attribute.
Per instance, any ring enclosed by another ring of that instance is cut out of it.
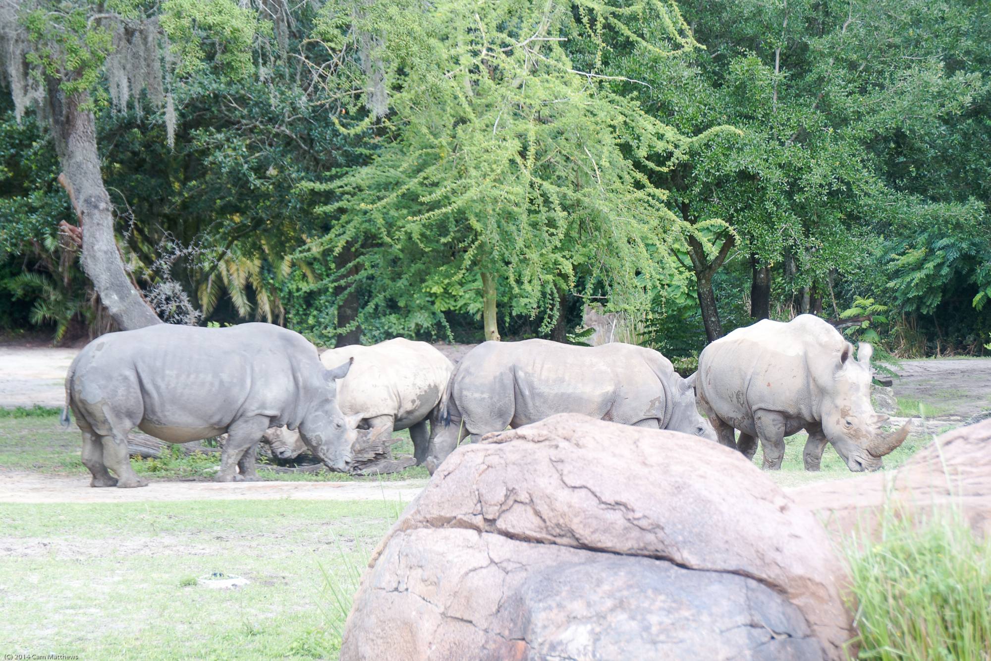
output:
<svg viewBox="0 0 991 661"><path fill-rule="evenodd" d="M981 536L991 535L991 420L946 432L897 470L789 489L835 537L876 536L885 507L925 523L951 509Z"/></svg>

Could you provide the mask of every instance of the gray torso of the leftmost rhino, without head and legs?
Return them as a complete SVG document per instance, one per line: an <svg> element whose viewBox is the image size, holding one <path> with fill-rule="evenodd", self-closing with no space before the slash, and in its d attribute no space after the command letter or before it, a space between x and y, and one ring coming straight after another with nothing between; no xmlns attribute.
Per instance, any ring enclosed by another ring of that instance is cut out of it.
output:
<svg viewBox="0 0 991 661"><path fill-rule="evenodd" d="M317 367L312 344L268 324L158 325L87 344L72 393L83 406L140 405L141 421L154 428L225 429L238 417L259 414L294 425L303 404L300 387L318 383Z"/></svg>

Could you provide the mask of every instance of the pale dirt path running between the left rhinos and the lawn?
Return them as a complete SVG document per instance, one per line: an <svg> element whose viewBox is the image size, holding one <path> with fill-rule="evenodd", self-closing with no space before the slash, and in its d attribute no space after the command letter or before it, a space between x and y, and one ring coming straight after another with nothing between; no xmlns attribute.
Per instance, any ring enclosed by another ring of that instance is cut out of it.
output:
<svg viewBox="0 0 991 661"><path fill-rule="evenodd" d="M88 476L0 472L0 503L161 502L165 500L401 500L409 502L426 480L396 482L180 482L152 481L138 489L89 486Z"/></svg>

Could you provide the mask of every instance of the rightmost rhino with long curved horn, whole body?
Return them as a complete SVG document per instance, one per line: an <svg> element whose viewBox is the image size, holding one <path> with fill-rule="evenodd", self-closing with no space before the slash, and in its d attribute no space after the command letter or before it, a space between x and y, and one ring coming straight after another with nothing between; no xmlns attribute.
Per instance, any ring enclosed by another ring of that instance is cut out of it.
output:
<svg viewBox="0 0 991 661"><path fill-rule="evenodd" d="M874 349L853 345L814 315L787 324L763 320L716 339L699 356L699 410L716 427L719 443L748 459L764 448L764 467L777 470L784 438L809 433L803 459L819 470L831 443L850 470L881 467L881 458L905 441L909 425L882 433L888 416L870 403L870 357ZM740 431L738 442L733 429Z"/></svg>

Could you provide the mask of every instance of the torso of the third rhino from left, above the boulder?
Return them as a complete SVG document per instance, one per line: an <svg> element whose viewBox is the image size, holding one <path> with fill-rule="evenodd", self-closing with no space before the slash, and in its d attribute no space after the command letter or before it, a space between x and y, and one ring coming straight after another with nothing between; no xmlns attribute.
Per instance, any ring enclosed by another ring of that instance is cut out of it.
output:
<svg viewBox="0 0 991 661"><path fill-rule="evenodd" d="M647 350L618 342L597 347L546 339L484 342L458 364L453 392L469 418L472 408L511 407L512 427L556 413L626 424L662 419L665 394L644 359ZM494 389L494 383L511 385Z"/></svg>

